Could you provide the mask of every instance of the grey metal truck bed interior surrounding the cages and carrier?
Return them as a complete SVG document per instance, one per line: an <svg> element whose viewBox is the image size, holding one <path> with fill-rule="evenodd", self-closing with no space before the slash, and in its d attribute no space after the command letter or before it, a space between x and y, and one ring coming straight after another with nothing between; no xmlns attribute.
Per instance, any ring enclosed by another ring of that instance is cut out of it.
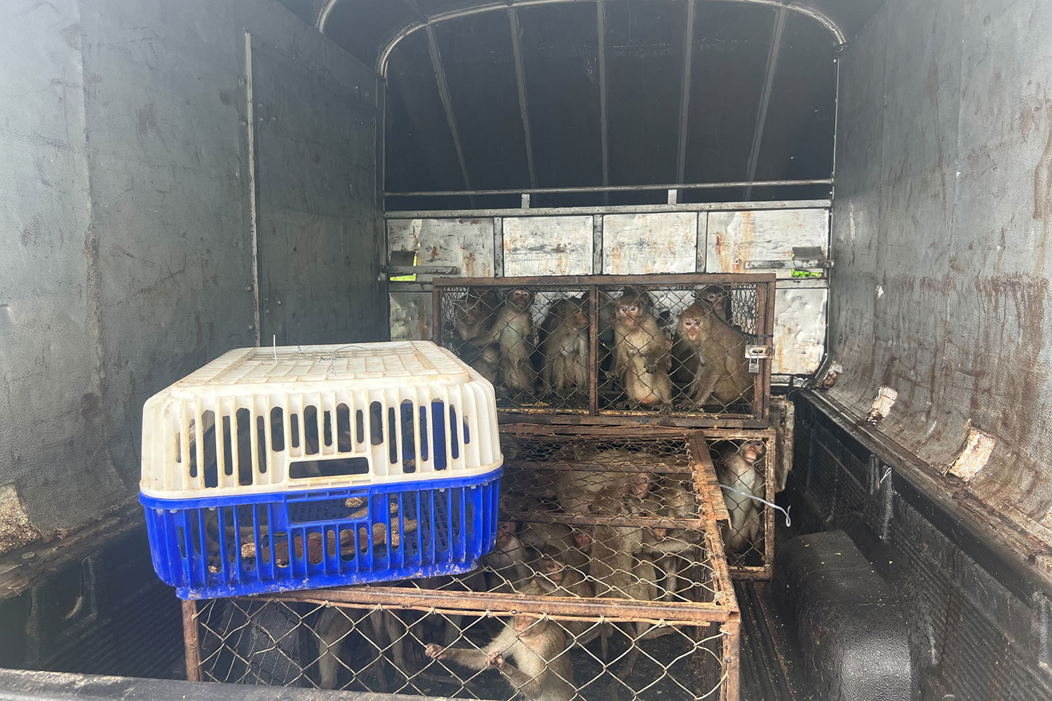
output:
<svg viewBox="0 0 1052 701"><path fill-rule="evenodd" d="M602 435L758 432L772 531L728 556L740 644L691 677L714 690L665 672L621 696L1052 698L1052 5L19 0L0 18L0 698L509 698L397 672L318 689L302 602L181 605L138 501L143 404L232 348L444 344L440 292L466 279L547 298L647 275L669 330L667 273L770 274L765 319L731 295L736 325L770 324L769 386L723 408L740 419L644 412ZM226 657L206 663L209 635ZM665 669L675 638L651 641Z"/></svg>

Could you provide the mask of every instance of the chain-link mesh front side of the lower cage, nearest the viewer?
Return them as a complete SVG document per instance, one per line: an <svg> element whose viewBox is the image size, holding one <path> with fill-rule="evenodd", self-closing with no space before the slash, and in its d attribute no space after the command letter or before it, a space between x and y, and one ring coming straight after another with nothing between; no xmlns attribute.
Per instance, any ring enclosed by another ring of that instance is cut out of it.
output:
<svg viewBox="0 0 1052 701"><path fill-rule="evenodd" d="M197 626L205 681L497 701L726 698L728 634L715 622L240 598L202 602Z"/></svg>

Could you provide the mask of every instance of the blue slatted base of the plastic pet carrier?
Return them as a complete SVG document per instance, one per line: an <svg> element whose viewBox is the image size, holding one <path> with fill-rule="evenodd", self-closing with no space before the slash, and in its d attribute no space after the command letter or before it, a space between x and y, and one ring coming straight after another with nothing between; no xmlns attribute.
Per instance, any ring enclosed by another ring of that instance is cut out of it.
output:
<svg viewBox="0 0 1052 701"><path fill-rule="evenodd" d="M502 472L139 500L158 576L181 599L209 599L473 570L497 540Z"/></svg>

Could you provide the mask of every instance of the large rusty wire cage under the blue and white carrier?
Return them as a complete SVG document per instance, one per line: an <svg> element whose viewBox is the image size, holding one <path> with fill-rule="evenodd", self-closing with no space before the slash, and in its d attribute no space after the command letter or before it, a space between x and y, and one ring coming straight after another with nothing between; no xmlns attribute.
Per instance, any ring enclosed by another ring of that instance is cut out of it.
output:
<svg viewBox="0 0 1052 701"><path fill-rule="evenodd" d="M740 615L704 438L527 429L503 444L505 520L481 568L187 602L188 677L479 699L537 698L540 684L567 700L736 700ZM533 642L514 643L512 626Z"/></svg>

